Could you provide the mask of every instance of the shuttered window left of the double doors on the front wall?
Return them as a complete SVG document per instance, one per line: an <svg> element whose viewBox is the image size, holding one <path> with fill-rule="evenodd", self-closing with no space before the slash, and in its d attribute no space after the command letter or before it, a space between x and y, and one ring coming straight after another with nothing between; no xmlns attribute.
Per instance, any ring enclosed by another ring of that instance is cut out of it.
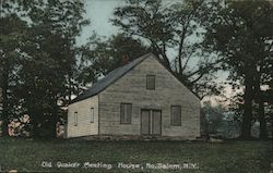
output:
<svg viewBox="0 0 273 173"><path fill-rule="evenodd" d="M132 104L121 103L120 104L120 124L131 124L132 116Z"/></svg>

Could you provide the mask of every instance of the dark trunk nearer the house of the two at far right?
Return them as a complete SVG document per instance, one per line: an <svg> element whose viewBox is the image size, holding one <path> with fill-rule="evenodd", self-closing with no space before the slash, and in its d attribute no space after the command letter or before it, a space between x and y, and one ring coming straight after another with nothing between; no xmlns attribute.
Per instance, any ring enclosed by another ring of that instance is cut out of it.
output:
<svg viewBox="0 0 273 173"><path fill-rule="evenodd" d="M241 138L251 138L251 121L252 121L252 100L253 100L253 76L251 73L246 74L245 79L245 103L244 103L244 114L241 124Z"/></svg>

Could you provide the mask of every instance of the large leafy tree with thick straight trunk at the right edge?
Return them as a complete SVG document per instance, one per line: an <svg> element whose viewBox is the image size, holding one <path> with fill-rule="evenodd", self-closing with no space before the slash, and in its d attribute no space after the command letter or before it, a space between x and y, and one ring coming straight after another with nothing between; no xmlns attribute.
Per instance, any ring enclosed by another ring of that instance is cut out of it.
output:
<svg viewBox="0 0 273 173"><path fill-rule="evenodd" d="M232 83L244 86L242 138L251 137L253 94L266 81L272 61L272 18L269 1L228 1L207 21L206 48L224 60Z"/></svg>

